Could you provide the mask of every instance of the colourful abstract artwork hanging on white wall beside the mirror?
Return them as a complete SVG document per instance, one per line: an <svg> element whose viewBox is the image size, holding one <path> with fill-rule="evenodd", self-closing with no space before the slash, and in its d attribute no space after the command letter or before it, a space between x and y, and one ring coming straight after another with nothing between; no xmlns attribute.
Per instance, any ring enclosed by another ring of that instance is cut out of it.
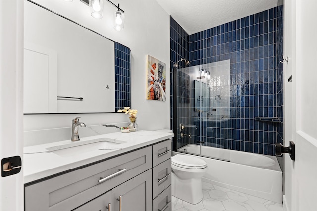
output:
<svg viewBox="0 0 317 211"><path fill-rule="evenodd" d="M166 64L147 55L147 100L166 101Z"/></svg>

